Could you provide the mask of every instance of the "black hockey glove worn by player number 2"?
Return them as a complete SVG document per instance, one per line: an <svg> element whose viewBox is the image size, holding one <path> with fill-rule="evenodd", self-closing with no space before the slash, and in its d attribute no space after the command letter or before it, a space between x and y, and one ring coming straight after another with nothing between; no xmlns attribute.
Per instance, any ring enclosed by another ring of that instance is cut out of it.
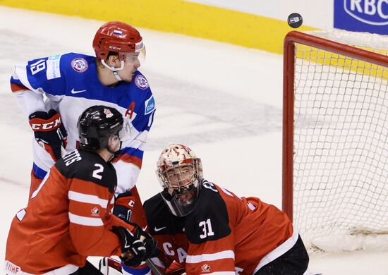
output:
<svg viewBox="0 0 388 275"><path fill-rule="evenodd" d="M145 244L143 240L140 240L140 228L135 226L134 233L122 226L114 226L113 229L121 240L122 254L120 259L130 267L137 267L145 260L146 255Z"/></svg>

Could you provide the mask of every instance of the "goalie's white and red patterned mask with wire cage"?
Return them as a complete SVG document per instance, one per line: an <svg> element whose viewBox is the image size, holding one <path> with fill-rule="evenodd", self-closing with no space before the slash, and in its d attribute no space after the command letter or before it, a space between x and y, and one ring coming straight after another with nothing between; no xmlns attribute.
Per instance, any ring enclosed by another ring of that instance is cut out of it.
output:
<svg viewBox="0 0 388 275"><path fill-rule="evenodd" d="M175 216L186 216L198 203L203 179L201 160L190 148L171 143L157 161L162 197Z"/></svg>

